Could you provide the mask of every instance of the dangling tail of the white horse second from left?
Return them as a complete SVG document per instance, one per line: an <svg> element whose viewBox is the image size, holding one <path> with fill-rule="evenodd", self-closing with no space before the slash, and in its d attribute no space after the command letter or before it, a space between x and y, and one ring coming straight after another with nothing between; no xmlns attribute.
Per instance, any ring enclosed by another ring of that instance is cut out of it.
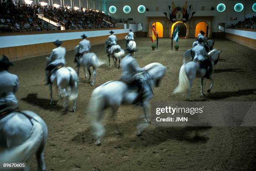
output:
<svg viewBox="0 0 256 171"><path fill-rule="evenodd" d="M69 81L69 100L73 101L77 98L78 96L78 76L76 71L71 68L71 67L67 67L69 69L69 73L70 73L70 81Z"/></svg>

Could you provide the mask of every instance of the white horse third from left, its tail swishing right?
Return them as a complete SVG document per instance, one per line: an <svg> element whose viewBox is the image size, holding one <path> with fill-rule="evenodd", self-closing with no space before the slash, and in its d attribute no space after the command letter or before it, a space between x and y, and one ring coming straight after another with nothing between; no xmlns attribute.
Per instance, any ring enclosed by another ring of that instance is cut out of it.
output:
<svg viewBox="0 0 256 171"><path fill-rule="evenodd" d="M77 45L75 47L75 54L78 53L78 50L79 50L79 45ZM78 66L77 66L78 81L79 81L79 69L80 69L80 67L84 67L85 78L87 78L87 74L86 74L86 68L87 68L88 73L89 73L88 82L91 83L92 73L91 73L90 67L92 67L92 69L93 69L93 78L92 78L92 84L91 85L93 86L95 76L96 76L96 68L99 68L100 65L102 65L104 62L99 60L97 55L95 55L95 53L85 53L80 58L77 57L77 56L75 58L76 58L76 61L77 61L77 64L78 64Z"/></svg>

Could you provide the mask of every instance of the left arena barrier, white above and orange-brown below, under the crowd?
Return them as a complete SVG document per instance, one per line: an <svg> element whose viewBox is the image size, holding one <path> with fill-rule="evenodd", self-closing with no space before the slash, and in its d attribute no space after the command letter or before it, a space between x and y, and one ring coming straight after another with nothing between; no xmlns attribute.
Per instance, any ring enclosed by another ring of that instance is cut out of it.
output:
<svg viewBox="0 0 256 171"><path fill-rule="evenodd" d="M67 50L73 50L76 45L82 40L81 35L88 35L91 45L98 45L105 43L109 31L114 30L118 40L124 39L125 35L129 32L128 29L108 29L108 30L76 30L64 33L43 33L29 35L3 35L0 36L0 54L5 54L10 60L21 60L25 58L32 58L40 55L48 55L51 50L55 48L52 43L59 39L63 42L62 46Z"/></svg>

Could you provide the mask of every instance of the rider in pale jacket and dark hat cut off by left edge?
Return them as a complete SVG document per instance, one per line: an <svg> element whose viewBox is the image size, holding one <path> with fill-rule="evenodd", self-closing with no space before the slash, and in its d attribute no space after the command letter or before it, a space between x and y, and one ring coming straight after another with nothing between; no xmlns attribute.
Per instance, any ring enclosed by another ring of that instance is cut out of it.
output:
<svg viewBox="0 0 256 171"><path fill-rule="evenodd" d="M20 86L18 76L8 72L9 59L3 55L0 57L0 115L1 113L18 108L18 100L15 93Z"/></svg>

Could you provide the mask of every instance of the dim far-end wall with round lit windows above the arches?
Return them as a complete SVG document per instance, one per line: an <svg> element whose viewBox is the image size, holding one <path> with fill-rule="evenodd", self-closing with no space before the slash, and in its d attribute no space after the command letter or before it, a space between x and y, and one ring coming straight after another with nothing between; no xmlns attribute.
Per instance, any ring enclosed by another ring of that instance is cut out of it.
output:
<svg viewBox="0 0 256 171"><path fill-rule="evenodd" d="M173 0L176 6L183 7L184 3L187 0ZM219 13L216 10L216 7L219 3L224 3L226 6L226 10L223 13ZM242 3L244 9L242 12L237 13L234 10L234 5L236 3ZM245 17L256 16L256 13L252 10L252 5L255 3L254 0L188 0L188 5L192 4L193 11L196 11L195 16L214 16L214 21L212 23L213 32L218 32L218 23L225 23L225 26L236 24L240 20L244 20ZM115 14L111 14L108 11L108 8L111 5L115 5L117 8L117 12ZM123 12L123 7L125 5L129 5L131 7L131 12L125 14ZM138 13L138 6L144 5L149 9L149 12L145 12L143 14ZM108 15L113 16L113 18L133 18L136 23L143 23L143 31L148 31L148 21L147 16L165 16L164 12L168 10L168 5L172 6L171 0L108 0L106 2L106 9L108 11ZM205 6L205 11L202 11L202 6ZM215 10L211 11L210 8L214 7ZM156 7L159 7L159 11L156 11ZM230 17L237 17L237 20L230 20Z"/></svg>

